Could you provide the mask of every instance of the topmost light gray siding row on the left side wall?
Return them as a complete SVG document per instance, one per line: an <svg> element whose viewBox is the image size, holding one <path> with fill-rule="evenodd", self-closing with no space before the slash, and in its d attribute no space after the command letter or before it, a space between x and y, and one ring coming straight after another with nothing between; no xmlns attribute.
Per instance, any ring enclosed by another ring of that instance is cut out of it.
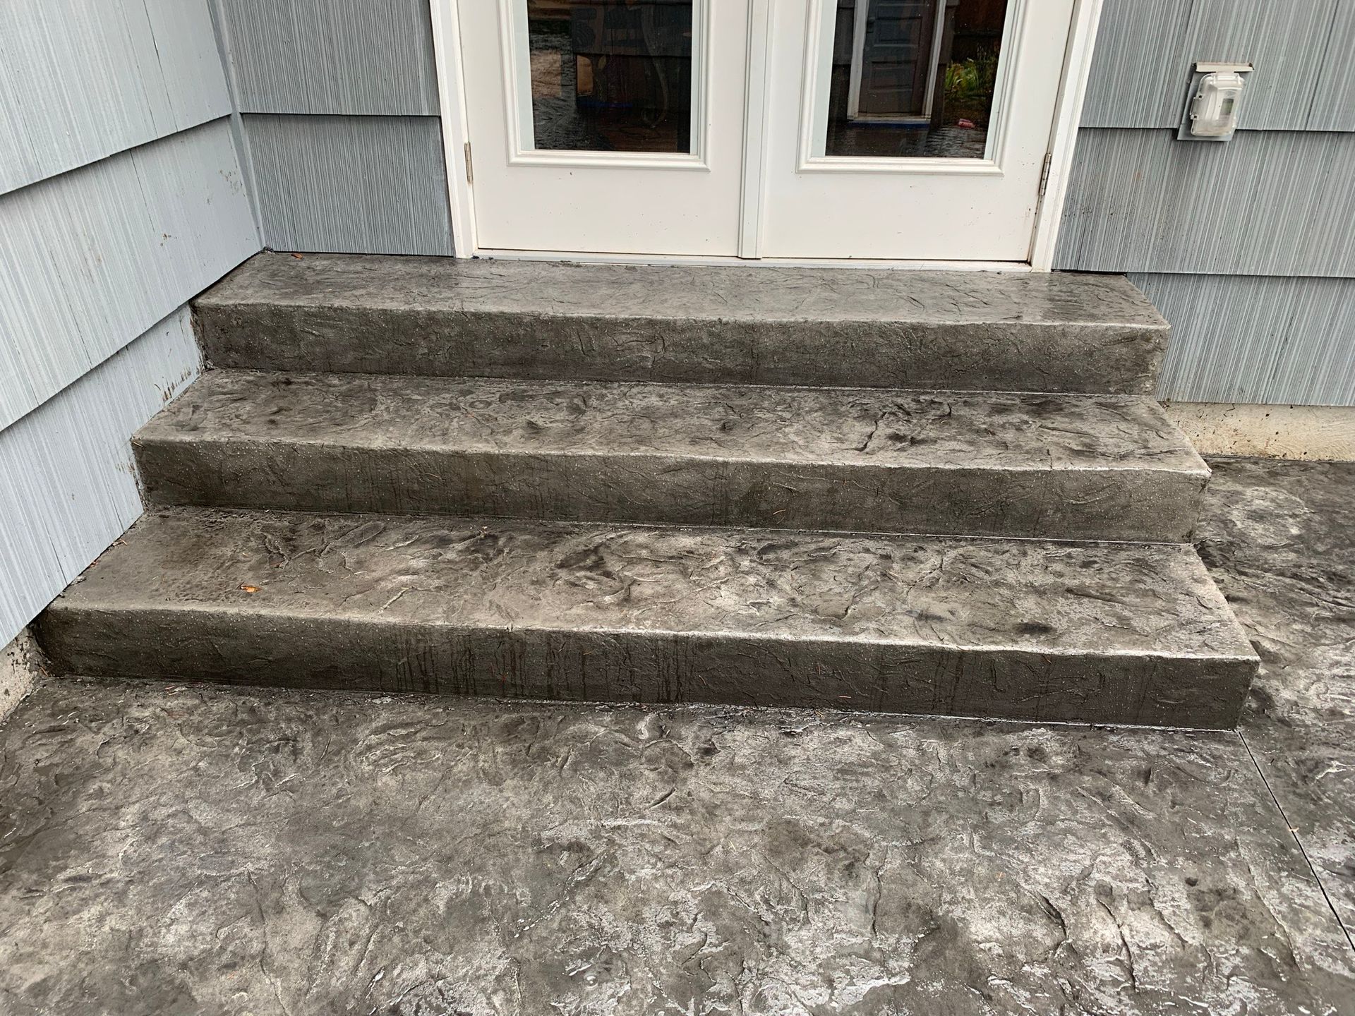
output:
<svg viewBox="0 0 1355 1016"><path fill-rule="evenodd" d="M0 194L230 112L206 0L0 3Z"/></svg>

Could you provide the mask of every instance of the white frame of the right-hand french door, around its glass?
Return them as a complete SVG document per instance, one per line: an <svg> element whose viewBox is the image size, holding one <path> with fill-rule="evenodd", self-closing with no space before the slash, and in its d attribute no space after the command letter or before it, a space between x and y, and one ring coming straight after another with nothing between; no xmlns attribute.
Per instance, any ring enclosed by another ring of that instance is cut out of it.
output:
<svg viewBox="0 0 1355 1016"><path fill-rule="evenodd" d="M877 145L888 130L878 121L835 122L835 8L772 1L762 256L1024 261L1073 0L1009 0L996 66L974 61L993 77L991 106L939 127L900 126L902 145ZM920 34L931 27L921 22ZM944 72L938 84L944 100Z"/></svg>

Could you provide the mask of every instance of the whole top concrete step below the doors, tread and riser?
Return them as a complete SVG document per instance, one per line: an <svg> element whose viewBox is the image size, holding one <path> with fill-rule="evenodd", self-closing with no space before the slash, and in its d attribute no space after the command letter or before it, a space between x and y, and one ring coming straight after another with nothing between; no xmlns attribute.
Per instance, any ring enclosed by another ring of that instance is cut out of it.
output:
<svg viewBox="0 0 1355 1016"><path fill-rule="evenodd" d="M1111 275L262 253L196 303L218 367L1148 394L1168 326Z"/></svg>

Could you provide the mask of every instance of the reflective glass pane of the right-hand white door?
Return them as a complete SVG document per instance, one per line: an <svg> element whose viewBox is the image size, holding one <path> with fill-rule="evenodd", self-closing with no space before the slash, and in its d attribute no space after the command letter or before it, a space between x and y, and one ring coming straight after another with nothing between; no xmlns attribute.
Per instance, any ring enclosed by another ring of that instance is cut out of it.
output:
<svg viewBox="0 0 1355 1016"><path fill-rule="evenodd" d="M837 0L829 156L982 158L1008 0Z"/></svg>

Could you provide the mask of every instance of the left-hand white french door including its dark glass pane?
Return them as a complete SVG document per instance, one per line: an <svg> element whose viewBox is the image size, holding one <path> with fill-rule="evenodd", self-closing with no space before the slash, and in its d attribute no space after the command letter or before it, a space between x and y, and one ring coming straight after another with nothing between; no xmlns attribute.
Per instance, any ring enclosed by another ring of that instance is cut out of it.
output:
<svg viewBox="0 0 1355 1016"><path fill-rule="evenodd" d="M481 248L736 253L745 0L459 11Z"/></svg>

